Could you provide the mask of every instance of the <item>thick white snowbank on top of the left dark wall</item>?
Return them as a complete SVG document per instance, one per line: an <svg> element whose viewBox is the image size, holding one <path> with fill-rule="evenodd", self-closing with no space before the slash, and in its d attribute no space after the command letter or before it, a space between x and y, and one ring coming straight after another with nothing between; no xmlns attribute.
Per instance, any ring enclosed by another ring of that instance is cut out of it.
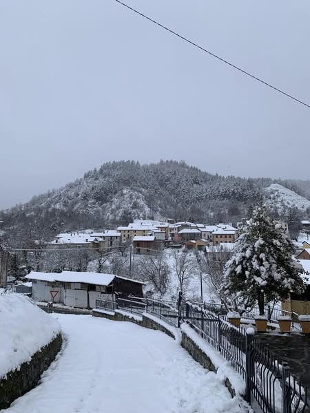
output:
<svg viewBox="0 0 310 413"><path fill-rule="evenodd" d="M61 332L58 321L17 293L0 293L0 379Z"/></svg>

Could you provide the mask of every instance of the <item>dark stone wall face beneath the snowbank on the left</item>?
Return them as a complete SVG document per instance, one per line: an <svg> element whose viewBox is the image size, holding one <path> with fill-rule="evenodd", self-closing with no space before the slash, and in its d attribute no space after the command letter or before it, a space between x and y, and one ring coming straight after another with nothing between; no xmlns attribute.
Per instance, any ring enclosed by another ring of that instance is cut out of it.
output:
<svg viewBox="0 0 310 413"><path fill-rule="evenodd" d="M9 372L0 380L0 410L9 407L12 401L37 385L43 371L61 350L61 345L62 337L59 334L47 346L34 353L28 363L21 364L19 370Z"/></svg>

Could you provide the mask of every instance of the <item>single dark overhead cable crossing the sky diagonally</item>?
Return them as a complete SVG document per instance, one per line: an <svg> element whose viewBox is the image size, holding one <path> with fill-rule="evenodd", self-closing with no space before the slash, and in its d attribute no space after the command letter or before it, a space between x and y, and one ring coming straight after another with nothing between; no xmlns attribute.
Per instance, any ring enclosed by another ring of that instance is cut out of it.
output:
<svg viewBox="0 0 310 413"><path fill-rule="evenodd" d="M209 55L213 56L214 58L218 59L219 61L221 61L221 62L223 62L223 63L226 63L227 65L229 65L229 66L231 66L231 67L234 67L234 69L238 70L239 72L241 72L241 73L243 73L243 74L245 74L245 75L247 75L247 76L249 76L249 77L251 77L251 78L254 78L256 81L262 83L263 85L268 86L268 87L270 87L271 89L276 90L276 92L279 92L280 94L283 94L283 95L287 96L287 98L293 99L293 100L295 100L296 102L300 103L301 105L304 105L304 106L310 108L310 105L308 105L308 103L305 103L305 102L303 102L302 100L300 100L300 99L298 99L298 98L296 98L296 97L288 94L287 92L284 92L282 89L278 89L278 87L271 85L271 83L267 83L267 82L263 81L261 78L258 78L258 77L255 76L254 74L251 74L251 73L247 72L246 70L243 70L241 67L238 67L238 66L234 65L234 63L231 63L231 62L223 59L223 57L220 57L220 56L218 56L217 54L215 54L215 53L213 53L213 52L210 52L209 50L207 50L207 49L205 49L204 47L202 47L202 46L198 45L197 43L195 43L194 41L191 41L191 40L187 39L185 36L182 36L181 34L178 34L177 32L174 32L174 30L171 30L171 29L167 28L167 26L165 26L165 25L163 25L163 24L161 24L161 23L158 23L158 21L156 21L156 20L154 20L154 19L151 19L151 18L148 17L146 14L143 14L143 13L139 12L139 11L136 10L135 8L132 8L132 7L128 6L127 4L123 3L123 2L120 1L120 0L115 0L115 1L116 1L116 3L121 4L121 5L124 6L125 8L127 8L127 9L131 10L132 12L138 14L139 16L143 17L144 19L147 19L148 21L151 21L152 23L158 25L159 27L163 28L164 30L167 30L167 32L169 32L169 33L171 33L171 34L174 34L174 36L177 36L177 37L179 37L180 39L186 41L187 43L189 43L189 44L197 47L197 48L200 49L200 50L202 50L203 52L208 53Z"/></svg>

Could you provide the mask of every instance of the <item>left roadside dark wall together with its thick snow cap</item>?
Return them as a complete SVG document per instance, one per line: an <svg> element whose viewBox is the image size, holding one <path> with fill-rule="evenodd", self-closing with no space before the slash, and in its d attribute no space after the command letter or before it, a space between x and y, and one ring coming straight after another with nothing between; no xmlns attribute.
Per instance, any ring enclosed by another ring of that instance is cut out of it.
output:
<svg viewBox="0 0 310 413"><path fill-rule="evenodd" d="M0 409L37 385L61 349L61 326L34 302L0 291Z"/></svg>

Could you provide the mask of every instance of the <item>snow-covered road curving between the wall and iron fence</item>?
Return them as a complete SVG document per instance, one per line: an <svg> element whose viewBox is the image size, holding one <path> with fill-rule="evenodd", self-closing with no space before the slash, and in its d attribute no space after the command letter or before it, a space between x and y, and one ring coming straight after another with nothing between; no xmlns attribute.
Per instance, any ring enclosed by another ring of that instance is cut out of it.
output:
<svg viewBox="0 0 310 413"><path fill-rule="evenodd" d="M61 315L66 337L41 384L6 413L241 412L216 374L163 332L88 315Z"/></svg>

